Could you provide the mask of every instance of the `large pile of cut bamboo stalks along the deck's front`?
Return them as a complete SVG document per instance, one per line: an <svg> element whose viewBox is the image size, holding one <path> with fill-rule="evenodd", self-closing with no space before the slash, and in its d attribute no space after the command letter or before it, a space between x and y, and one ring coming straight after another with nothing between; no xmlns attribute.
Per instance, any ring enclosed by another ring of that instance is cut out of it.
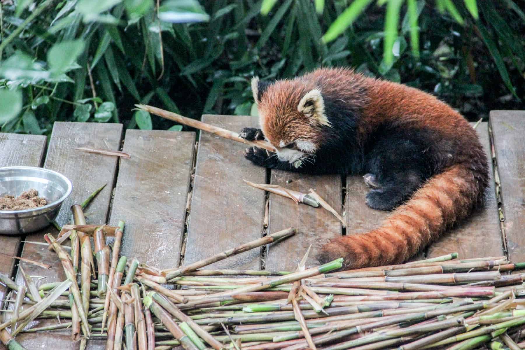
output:
<svg viewBox="0 0 525 350"><path fill-rule="evenodd" d="M450 253L338 271L342 259L307 268L307 252L296 271L203 269L295 235L289 228L160 270L119 256L124 222L87 225L82 206L71 209L74 225L45 235L65 281L37 288L30 277L17 285L0 275L12 291L0 324L9 350L24 349L17 337L28 332L69 332L81 349L104 340L107 350L525 348L524 274L515 272L525 263L506 257ZM28 327L34 320L42 322Z"/></svg>

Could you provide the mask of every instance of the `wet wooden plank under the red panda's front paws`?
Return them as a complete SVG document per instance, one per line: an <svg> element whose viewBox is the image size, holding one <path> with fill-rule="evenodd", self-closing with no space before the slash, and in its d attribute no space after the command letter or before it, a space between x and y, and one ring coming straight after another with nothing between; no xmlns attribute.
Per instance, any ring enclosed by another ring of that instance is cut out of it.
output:
<svg viewBox="0 0 525 350"><path fill-rule="evenodd" d="M257 119L250 116L203 115L202 120L233 131L257 126ZM243 144L201 132L185 264L261 237L265 194L249 188L243 179L265 183L266 169L246 160L244 150ZM209 267L259 269L259 250L241 253Z"/></svg>

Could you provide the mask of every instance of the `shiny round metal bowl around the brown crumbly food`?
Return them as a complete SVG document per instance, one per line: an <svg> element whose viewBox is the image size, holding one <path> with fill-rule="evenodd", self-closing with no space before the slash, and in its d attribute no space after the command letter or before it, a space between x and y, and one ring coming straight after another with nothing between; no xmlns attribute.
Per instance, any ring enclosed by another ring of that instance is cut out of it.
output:
<svg viewBox="0 0 525 350"><path fill-rule="evenodd" d="M0 210L0 234L21 235L45 228L55 220L62 202L71 194L73 186L67 177L52 170L33 166L0 168L0 196L15 197L34 188L47 205L25 210Z"/></svg>

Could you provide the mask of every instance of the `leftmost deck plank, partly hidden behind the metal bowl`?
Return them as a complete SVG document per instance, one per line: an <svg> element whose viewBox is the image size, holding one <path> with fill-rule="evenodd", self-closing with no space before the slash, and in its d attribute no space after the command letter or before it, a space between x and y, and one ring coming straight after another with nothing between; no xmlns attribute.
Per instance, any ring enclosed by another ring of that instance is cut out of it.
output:
<svg viewBox="0 0 525 350"><path fill-rule="evenodd" d="M0 166L41 166L46 151L46 136L0 133ZM4 195L4 194L0 194ZM2 252L16 256L22 236L0 235ZM0 255L0 273L12 276L15 260ZM4 299L5 288L0 285L0 300ZM0 308L2 307L0 302Z"/></svg>

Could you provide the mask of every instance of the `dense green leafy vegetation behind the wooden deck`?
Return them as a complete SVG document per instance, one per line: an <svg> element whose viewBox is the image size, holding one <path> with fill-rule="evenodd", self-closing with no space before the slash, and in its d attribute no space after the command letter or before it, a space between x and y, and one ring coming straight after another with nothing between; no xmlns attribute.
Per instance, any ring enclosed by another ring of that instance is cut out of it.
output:
<svg viewBox="0 0 525 350"><path fill-rule="evenodd" d="M519 4L521 2L521 5ZM435 94L470 120L524 109L522 0L2 0L2 132L55 121L180 130L135 103L250 114L249 79L319 66Z"/></svg>

